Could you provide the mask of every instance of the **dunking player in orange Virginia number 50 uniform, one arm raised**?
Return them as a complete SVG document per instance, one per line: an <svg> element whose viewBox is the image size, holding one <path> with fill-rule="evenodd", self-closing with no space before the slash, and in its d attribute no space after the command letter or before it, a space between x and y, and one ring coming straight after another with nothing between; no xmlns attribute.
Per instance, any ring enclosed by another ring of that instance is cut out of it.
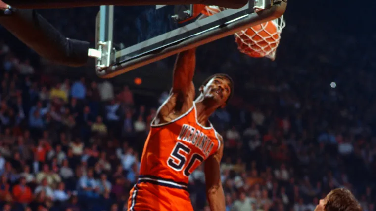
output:
<svg viewBox="0 0 376 211"><path fill-rule="evenodd" d="M130 191L129 211L193 211L188 176L204 161L210 209L225 210L220 179L223 141L208 118L226 105L233 81L225 74L212 75L194 100L195 60L194 49L178 55L170 96L151 122L139 180Z"/></svg>

